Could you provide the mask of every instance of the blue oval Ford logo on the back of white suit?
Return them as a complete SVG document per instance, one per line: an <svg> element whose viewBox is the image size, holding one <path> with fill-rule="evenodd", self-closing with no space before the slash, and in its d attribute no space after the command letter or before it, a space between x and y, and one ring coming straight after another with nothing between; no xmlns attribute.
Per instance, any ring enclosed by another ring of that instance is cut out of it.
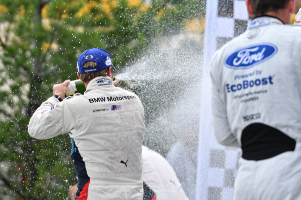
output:
<svg viewBox="0 0 301 200"><path fill-rule="evenodd" d="M259 43L241 48L226 57L225 65L233 69L251 68L273 57L277 46L272 43Z"/></svg>

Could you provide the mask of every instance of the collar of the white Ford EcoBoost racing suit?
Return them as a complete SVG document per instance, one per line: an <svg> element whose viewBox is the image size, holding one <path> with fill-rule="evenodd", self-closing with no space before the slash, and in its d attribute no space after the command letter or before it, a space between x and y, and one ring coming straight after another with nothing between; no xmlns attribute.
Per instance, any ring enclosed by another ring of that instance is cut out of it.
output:
<svg viewBox="0 0 301 200"><path fill-rule="evenodd" d="M284 24L279 18L270 15L260 15L254 17L249 21L248 29L270 25L270 24Z"/></svg>

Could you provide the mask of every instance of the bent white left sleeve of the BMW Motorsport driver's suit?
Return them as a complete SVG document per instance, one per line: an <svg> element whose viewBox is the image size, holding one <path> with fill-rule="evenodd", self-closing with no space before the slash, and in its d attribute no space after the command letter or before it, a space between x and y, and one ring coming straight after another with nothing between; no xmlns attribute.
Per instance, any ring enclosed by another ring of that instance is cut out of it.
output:
<svg viewBox="0 0 301 200"><path fill-rule="evenodd" d="M66 118L66 115L71 115L71 113L66 108L65 102L59 102L55 97L50 97L41 104L31 117L28 124L30 136L37 139L49 139L67 133L72 125L68 124L65 128L64 118Z"/></svg>

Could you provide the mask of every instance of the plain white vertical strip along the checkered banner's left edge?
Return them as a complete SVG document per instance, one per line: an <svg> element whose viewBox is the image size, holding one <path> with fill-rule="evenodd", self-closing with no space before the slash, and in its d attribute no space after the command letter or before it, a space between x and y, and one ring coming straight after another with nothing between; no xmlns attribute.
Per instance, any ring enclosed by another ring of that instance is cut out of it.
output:
<svg viewBox="0 0 301 200"><path fill-rule="evenodd" d="M212 143L213 133L211 129L211 83L210 83L210 60L216 50L216 30L218 0L206 1L206 25L205 25L205 45L203 52L203 74L201 81L201 113L199 123L199 146L198 146L198 168L196 199L207 199L208 166L210 155L210 143Z"/></svg>

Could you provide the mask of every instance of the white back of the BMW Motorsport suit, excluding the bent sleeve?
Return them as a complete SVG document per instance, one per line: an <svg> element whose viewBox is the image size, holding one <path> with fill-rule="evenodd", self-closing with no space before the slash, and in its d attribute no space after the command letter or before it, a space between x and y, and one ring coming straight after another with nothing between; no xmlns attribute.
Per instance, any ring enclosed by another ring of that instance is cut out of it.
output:
<svg viewBox="0 0 301 200"><path fill-rule="evenodd" d="M78 126L70 137L90 177L88 197L141 199L143 107L134 93L103 80L92 79L84 95L65 100Z"/></svg>

